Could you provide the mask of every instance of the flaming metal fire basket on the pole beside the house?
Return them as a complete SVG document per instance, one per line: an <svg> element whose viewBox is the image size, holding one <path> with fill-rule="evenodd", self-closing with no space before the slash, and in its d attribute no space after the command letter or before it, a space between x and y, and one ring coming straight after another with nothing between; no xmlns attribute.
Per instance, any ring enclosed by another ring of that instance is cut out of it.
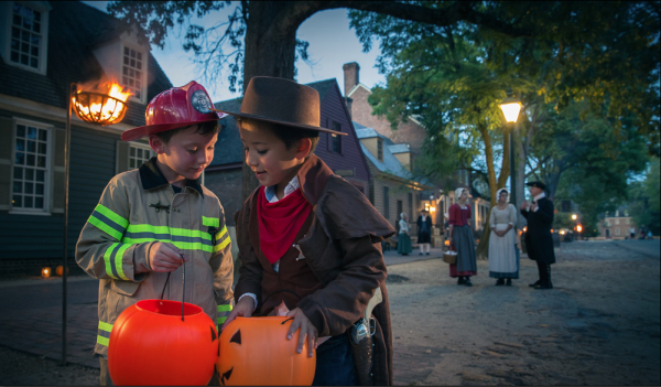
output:
<svg viewBox="0 0 661 387"><path fill-rule="evenodd" d="M84 121L100 126L121 121L127 112L126 101L132 93L124 93L116 82L104 84L99 88L107 88L107 94L76 90L72 97L76 116Z"/></svg>

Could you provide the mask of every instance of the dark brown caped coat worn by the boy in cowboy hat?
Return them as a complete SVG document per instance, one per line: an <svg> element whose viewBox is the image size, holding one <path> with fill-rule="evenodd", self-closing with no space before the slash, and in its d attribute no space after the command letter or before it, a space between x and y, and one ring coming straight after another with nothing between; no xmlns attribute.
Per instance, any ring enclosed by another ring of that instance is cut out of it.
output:
<svg viewBox="0 0 661 387"><path fill-rule="evenodd" d="M381 240L395 233L394 228L369 203L367 197L333 171L316 155L311 155L297 173L303 195L313 207L313 219L299 240L305 259L294 265L307 265L322 288L303 298L296 307L305 313L319 336L344 334L362 314L377 287L383 302L375 308L377 320L375 340L373 384L392 384L392 330L390 305L386 289L388 270L381 252ZM261 309L262 280L270 264L258 257L259 226L250 222L257 190L235 215L239 245L239 281L235 297L257 294ZM291 248L294 250L294 247ZM288 251L296 255L297 251ZM291 260L289 260L291 262ZM283 278L304 272L288 270L281 261L275 276L281 283L296 283L296 278ZM273 276L271 276L273 277ZM301 283L301 286L304 286ZM306 293L303 289L293 291ZM270 301L270 300L269 300ZM268 305L267 305L268 308Z"/></svg>

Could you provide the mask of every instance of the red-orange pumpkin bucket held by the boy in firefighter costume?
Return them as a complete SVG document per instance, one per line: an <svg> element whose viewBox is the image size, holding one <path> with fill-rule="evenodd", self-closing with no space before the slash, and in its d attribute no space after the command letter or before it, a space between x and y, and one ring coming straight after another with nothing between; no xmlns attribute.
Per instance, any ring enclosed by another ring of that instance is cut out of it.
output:
<svg viewBox="0 0 661 387"><path fill-rule="evenodd" d="M108 370L126 385L206 386L218 357L216 326L202 308L169 300L143 300L112 326Z"/></svg>

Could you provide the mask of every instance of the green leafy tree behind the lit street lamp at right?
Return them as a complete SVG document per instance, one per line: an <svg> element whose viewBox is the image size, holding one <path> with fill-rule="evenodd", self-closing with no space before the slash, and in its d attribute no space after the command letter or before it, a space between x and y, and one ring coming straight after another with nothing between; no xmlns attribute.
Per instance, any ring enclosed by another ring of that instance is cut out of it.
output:
<svg viewBox="0 0 661 387"><path fill-rule="evenodd" d="M442 3L424 4L443 7ZM463 130L464 138L469 140L467 143L475 143L470 141L478 138L475 131L485 128L478 120L488 122L486 128L499 125L496 123L497 109L490 110L492 116L484 109L488 98L492 98L490 103L495 107L503 97L502 90L514 90L525 108L518 136L514 136L520 184L517 196L521 198L524 163L532 155L535 136L546 120L553 119L554 111L562 111L576 100L586 101L587 106L581 111L583 116L592 111L608 118L616 138L620 131L633 128L644 136L650 153L659 152L658 8L658 2L613 2L608 8L595 2L559 1L476 4L480 12L508 20L511 25L529 32L518 36L465 23L438 29L403 23L383 14L351 11L350 17L365 51L375 39L380 40L379 67L392 77L388 77L390 92L375 93L371 103L377 107L375 114L386 116L393 128L398 120L415 115L425 126L431 126L432 132L434 125L447 127L452 122ZM465 44L458 45L448 39L455 31L459 31ZM470 65L477 65L475 71L462 76L460 69ZM412 80L413 75L407 76L408 73L415 73L418 79ZM442 73L444 79L435 82L434 77ZM480 82L473 82L475 78ZM448 86L438 87L440 84ZM486 84L494 89L483 87ZM481 101L475 96L478 92L484 97ZM460 104L453 105L458 100ZM480 105L481 109L475 109ZM462 120L469 117L473 126ZM500 176L506 179L507 136L502 138L500 165ZM485 158L487 164L492 164L494 158L488 153L492 147L485 139L483 137ZM546 165L545 176L554 187L562 173L572 168L563 158L542 161L554 163ZM489 185L500 185L498 180L489 176ZM480 239L480 252L487 240L487 237Z"/></svg>

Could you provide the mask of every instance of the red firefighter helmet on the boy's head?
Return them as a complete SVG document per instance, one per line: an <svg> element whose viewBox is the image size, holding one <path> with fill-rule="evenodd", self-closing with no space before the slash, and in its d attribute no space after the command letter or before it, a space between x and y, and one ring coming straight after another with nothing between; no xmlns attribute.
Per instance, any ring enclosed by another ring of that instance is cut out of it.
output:
<svg viewBox="0 0 661 387"><path fill-rule="evenodd" d="M227 117L214 108L205 88L195 80L173 87L155 96L144 111L145 126L121 133L124 141L191 125L217 121Z"/></svg>

